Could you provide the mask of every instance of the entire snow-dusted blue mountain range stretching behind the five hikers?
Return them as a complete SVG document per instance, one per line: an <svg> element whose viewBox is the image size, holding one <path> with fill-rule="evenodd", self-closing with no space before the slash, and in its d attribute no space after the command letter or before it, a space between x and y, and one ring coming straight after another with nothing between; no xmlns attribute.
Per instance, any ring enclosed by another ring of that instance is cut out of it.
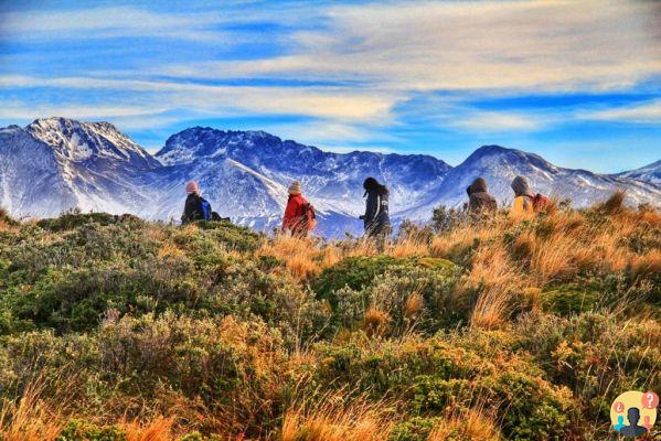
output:
<svg viewBox="0 0 661 441"><path fill-rule="evenodd" d="M316 206L320 233L361 233L362 182L375 176L391 190L391 214L429 219L440 205L466 201L482 176L499 203L512 200L510 182L522 174L533 191L584 206L625 190L632 204L661 206L659 162L619 175L563 169L541 157L499 146L476 150L451 168L429 155L331 153L264 131L194 127L173 135L151 155L107 122L38 119L0 129L0 205L18 217L83 211L134 213L178 219L184 184L195 180L222 216L268 230L277 226L287 185L300 180ZM654 181L657 180L657 181ZM646 182L647 181L647 182Z"/></svg>

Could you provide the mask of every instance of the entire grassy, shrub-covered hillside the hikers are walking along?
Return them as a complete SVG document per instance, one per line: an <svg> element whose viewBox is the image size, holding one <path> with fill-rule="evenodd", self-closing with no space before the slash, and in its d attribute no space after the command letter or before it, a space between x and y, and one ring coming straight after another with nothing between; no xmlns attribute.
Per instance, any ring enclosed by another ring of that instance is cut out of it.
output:
<svg viewBox="0 0 661 441"><path fill-rule="evenodd" d="M0 438L604 439L661 390L661 215L438 211L382 252L0 216Z"/></svg>

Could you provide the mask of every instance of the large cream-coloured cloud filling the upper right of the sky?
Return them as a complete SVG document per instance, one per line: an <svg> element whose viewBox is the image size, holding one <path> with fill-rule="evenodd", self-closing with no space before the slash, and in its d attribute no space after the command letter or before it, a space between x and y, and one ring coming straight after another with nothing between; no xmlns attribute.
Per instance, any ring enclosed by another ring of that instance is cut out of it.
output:
<svg viewBox="0 0 661 441"><path fill-rule="evenodd" d="M397 2L323 11L291 54L170 66L185 77L367 80L387 89L629 87L661 72L653 2Z"/></svg>

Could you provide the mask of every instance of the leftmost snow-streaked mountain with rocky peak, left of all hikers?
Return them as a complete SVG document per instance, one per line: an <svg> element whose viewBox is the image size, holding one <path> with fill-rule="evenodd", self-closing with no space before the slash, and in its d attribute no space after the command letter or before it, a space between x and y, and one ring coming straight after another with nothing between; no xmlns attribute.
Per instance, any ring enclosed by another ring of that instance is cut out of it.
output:
<svg viewBox="0 0 661 441"><path fill-rule="evenodd" d="M3 129L0 152L1 203L18 216L140 213L154 193L149 174L161 166L114 126L64 118Z"/></svg>

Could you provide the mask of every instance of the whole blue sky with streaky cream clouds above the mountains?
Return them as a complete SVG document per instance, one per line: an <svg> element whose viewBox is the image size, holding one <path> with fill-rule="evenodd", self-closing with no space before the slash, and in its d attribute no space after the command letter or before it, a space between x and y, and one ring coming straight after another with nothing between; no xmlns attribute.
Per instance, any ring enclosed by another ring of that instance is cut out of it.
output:
<svg viewBox="0 0 661 441"><path fill-rule="evenodd" d="M4 1L0 125L191 126L460 163L661 159L661 2Z"/></svg>

